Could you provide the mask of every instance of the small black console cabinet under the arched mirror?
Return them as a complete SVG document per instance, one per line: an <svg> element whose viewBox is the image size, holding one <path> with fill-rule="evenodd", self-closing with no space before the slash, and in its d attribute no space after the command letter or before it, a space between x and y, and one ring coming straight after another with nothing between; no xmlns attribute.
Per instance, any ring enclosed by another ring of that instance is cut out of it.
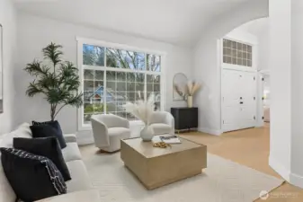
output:
<svg viewBox="0 0 303 202"><path fill-rule="evenodd" d="M174 117L174 129L177 132L198 128L198 108L171 108L171 113Z"/></svg>

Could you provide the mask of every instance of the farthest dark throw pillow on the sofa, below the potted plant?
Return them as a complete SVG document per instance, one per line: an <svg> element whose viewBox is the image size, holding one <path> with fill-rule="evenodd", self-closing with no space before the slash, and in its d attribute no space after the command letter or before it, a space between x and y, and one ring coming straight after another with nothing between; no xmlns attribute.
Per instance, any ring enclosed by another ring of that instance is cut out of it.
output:
<svg viewBox="0 0 303 202"><path fill-rule="evenodd" d="M34 123L34 121L32 121ZM38 123L38 122L35 122ZM61 131L61 127L58 124L58 121L49 121L42 124L33 124L31 126L32 137L48 137L55 136L58 139L61 149L67 147L67 143L64 139L64 136Z"/></svg>

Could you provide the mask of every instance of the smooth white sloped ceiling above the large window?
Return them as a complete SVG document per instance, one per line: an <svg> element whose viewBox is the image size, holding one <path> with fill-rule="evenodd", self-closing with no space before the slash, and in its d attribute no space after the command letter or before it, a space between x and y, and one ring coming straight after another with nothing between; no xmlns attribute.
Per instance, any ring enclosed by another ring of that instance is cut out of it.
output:
<svg viewBox="0 0 303 202"><path fill-rule="evenodd" d="M48 18L193 46L203 27L249 0L14 0L18 9Z"/></svg>

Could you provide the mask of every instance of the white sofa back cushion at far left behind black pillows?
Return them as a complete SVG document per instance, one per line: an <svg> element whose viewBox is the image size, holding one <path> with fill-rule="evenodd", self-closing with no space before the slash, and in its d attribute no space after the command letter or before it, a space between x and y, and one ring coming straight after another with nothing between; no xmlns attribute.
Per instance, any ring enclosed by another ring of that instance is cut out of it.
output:
<svg viewBox="0 0 303 202"><path fill-rule="evenodd" d="M30 124L23 123L12 132L4 134L0 142L0 147L13 148L14 137L32 138Z"/></svg>

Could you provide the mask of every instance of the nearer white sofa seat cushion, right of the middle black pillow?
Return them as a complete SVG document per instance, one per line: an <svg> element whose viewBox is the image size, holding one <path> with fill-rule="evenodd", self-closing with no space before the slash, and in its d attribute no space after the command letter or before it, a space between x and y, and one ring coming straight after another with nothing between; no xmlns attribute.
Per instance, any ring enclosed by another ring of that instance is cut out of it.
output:
<svg viewBox="0 0 303 202"><path fill-rule="evenodd" d="M67 181L67 193L93 189L93 185L89 179L85 168L85 163L81 160L67 162L67 167L72 180Z"/></svg>

